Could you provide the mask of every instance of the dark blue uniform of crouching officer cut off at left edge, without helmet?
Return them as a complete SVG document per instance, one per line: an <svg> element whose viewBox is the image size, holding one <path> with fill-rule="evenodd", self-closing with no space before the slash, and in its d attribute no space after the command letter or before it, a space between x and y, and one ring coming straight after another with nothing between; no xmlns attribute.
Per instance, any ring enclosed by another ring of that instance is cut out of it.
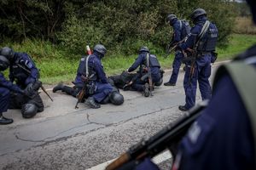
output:
<svg viewBox="0 0 256 170"><path fill-rule="evenodd" d="M5 112L9 108L10 91L23 94L23 91L5 79L3 73L0 72L0 113Z"/></svg>

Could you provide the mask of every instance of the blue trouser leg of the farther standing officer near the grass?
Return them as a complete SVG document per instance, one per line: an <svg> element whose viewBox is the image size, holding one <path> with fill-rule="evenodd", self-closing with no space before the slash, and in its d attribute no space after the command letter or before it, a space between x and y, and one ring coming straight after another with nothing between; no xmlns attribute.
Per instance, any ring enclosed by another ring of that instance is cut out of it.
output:
<svg viewBox="0 0 256 170"><path fill-rule="evenodd" d="M172 76L170 77L169 82L172 82L172 83L177 82L177 76L178 76L180 65L182 65L183 56L184 55L182 51L177 50L175 52L175 57L172 63Z"/></svg>

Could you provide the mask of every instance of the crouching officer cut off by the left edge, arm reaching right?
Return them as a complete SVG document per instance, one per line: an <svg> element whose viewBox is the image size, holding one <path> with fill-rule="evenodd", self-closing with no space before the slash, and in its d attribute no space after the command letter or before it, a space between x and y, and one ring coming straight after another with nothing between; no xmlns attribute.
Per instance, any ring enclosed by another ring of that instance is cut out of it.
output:
<svg viewBox="0 0 256 170"><path fill-rule="evenodd" d="M3 76L2 71L5 71L9 67L9 59L6 59L3 55L0 55L0 124L5 125L14 122L13 119L9 119L3 116L3 112L9 109L10 92L16 92L24 94L25 92L18 86L9 82Z"/></svg>

